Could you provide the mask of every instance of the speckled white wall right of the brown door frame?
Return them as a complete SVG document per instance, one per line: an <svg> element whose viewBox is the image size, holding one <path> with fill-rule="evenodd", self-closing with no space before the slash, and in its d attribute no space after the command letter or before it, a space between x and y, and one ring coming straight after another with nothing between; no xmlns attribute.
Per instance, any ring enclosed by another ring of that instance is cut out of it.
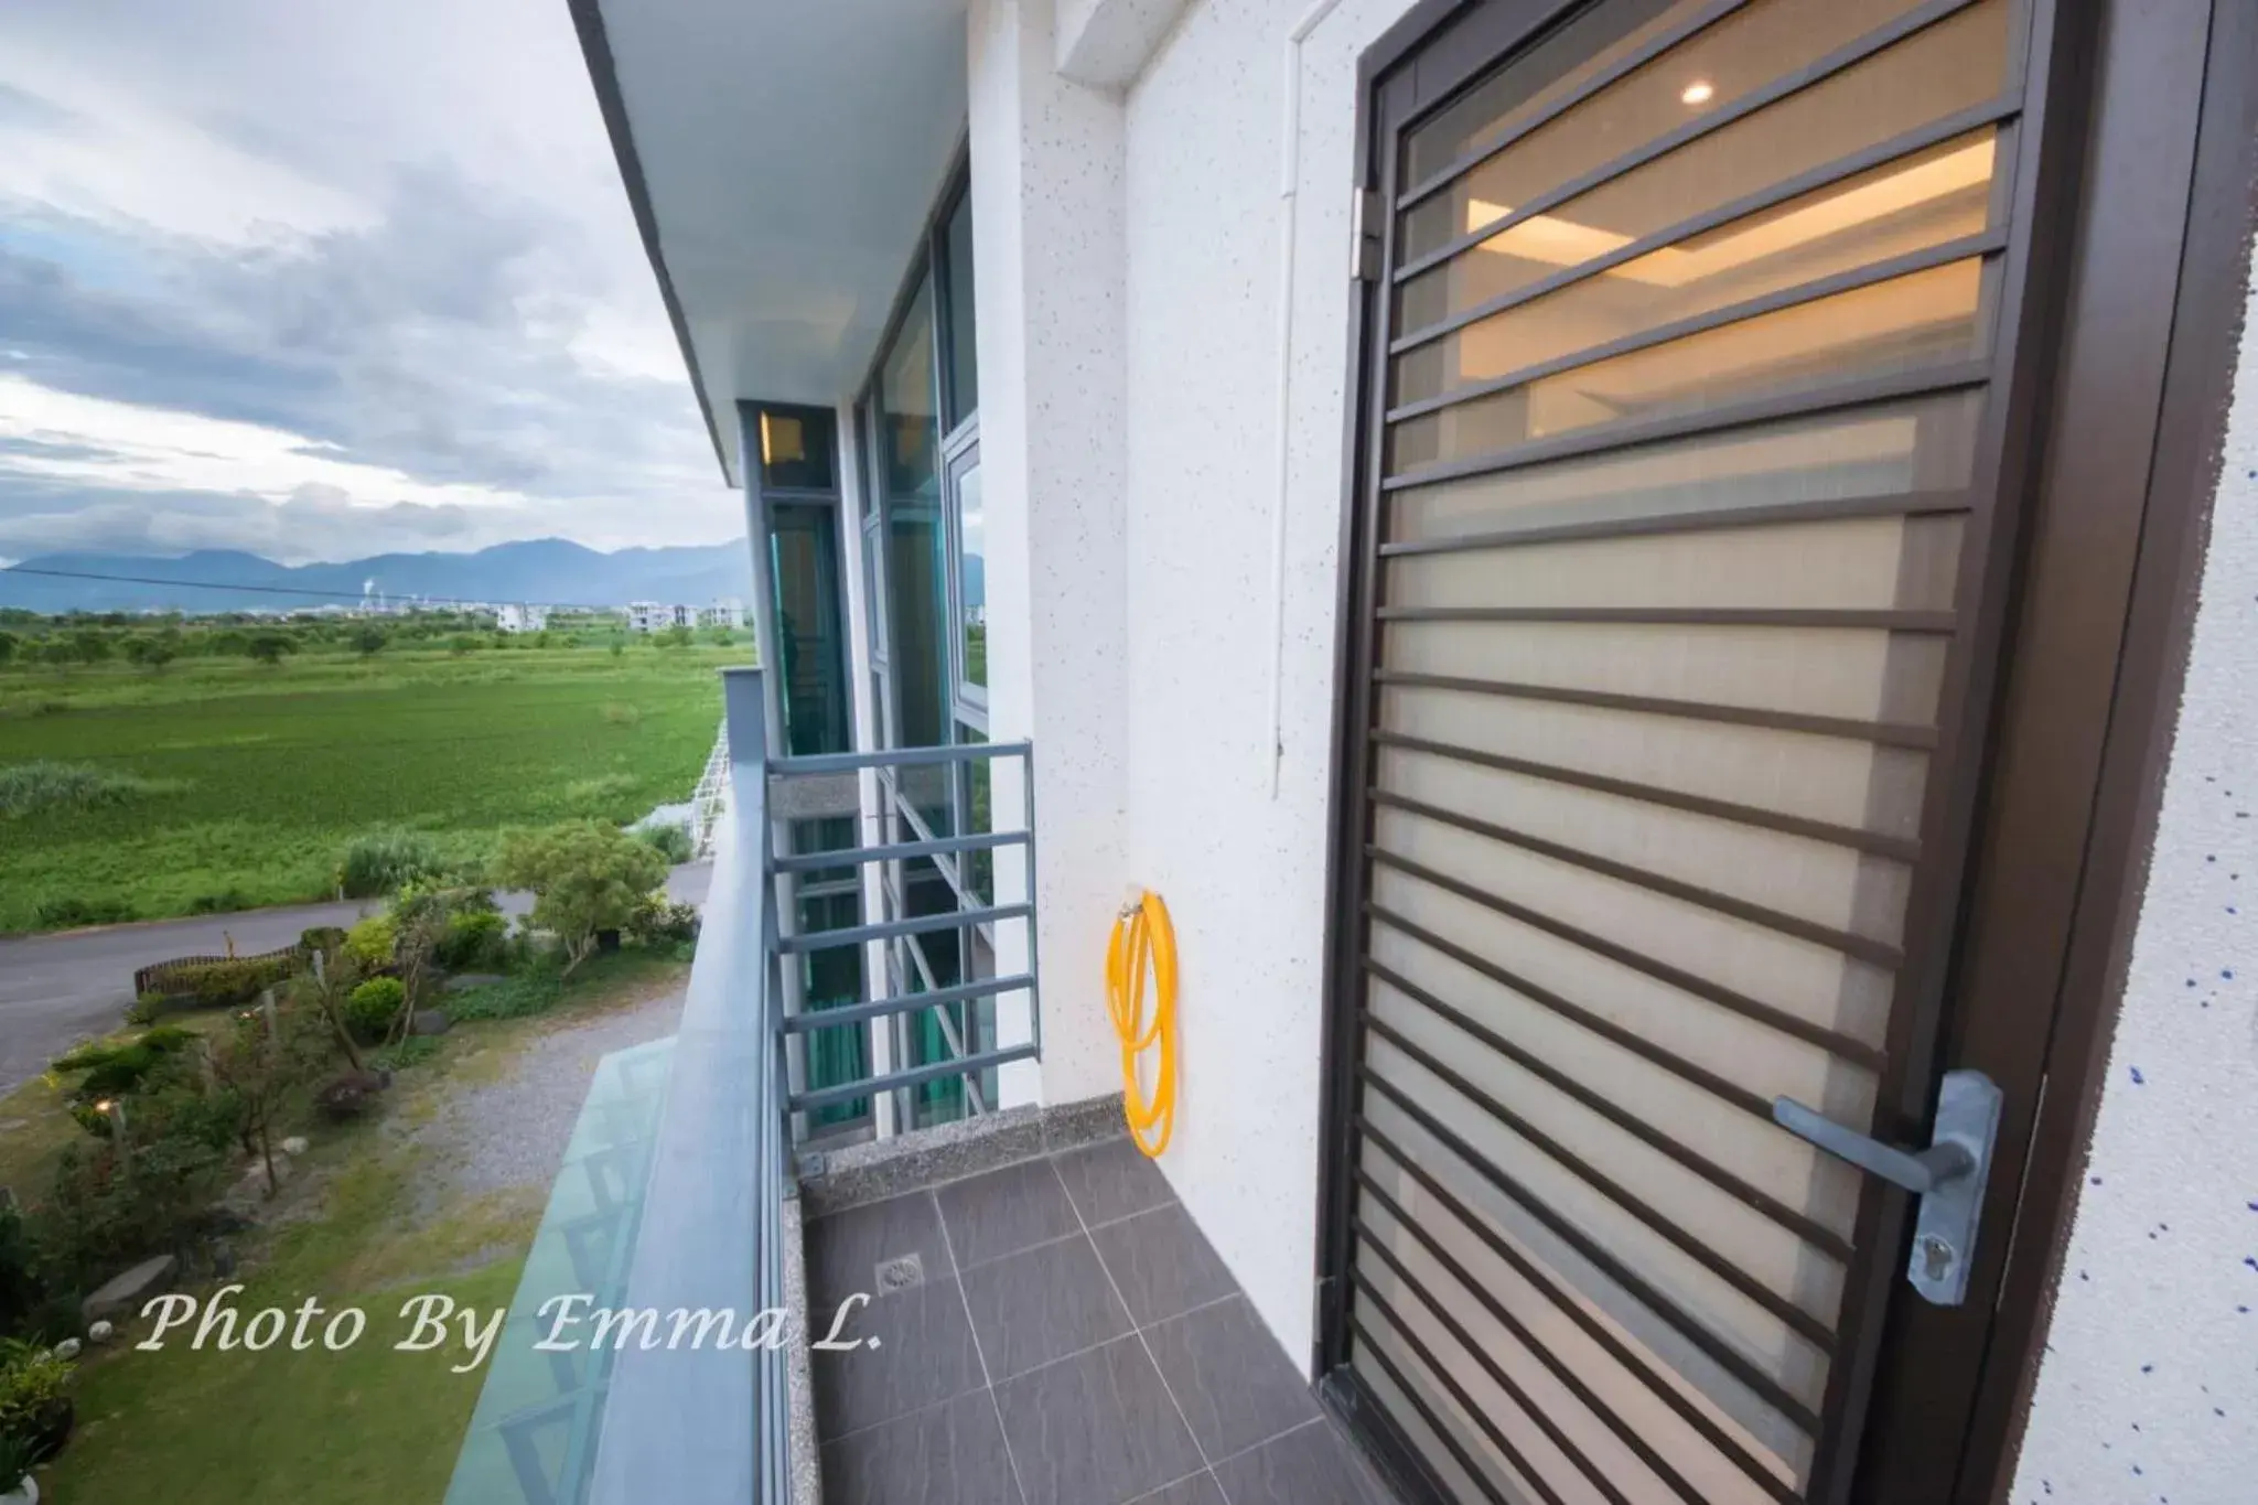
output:
<svg viewBox="0 0 2258 1505"><path fill-rule="evenodd" d="M2258 305L2016 1505L2258 1498Z"/></svg>

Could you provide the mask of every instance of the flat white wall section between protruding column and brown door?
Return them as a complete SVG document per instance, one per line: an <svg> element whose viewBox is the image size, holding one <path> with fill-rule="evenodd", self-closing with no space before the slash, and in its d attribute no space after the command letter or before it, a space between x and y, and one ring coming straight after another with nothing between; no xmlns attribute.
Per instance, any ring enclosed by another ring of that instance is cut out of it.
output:
<svg viewBox="0 0 2258 1505"><path fill-rule="evenodd" d="M1312 1345L1355 61L1303 43L1278 792L1271 503L1283 52L1310 0L1201 0L1129 90L1129 857L1176 921L1163 1169L1296 1363Z"/></svg>

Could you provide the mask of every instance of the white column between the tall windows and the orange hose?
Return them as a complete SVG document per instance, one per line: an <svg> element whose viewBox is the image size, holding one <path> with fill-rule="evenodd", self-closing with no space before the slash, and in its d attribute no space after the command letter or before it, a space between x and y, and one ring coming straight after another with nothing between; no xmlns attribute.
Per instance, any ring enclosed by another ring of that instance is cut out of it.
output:
<svg viewBox="0 0 2258 1505"><path fill-rule="evenodd" d="M1120 1085L1104 948L1127 871L1127 323L1122 102L1054 70L1052 0L973 0L969 18L980 465L987 501L989 733L1032 738L1041 844L1041 1067L1003 1101ZM998 830L1021 817L996 767ZM998 900L1025 891L1000 851ZM998 970L1025 966L1021 925ZM1005 1045L1023 1011L998 1011Z"/></svg>

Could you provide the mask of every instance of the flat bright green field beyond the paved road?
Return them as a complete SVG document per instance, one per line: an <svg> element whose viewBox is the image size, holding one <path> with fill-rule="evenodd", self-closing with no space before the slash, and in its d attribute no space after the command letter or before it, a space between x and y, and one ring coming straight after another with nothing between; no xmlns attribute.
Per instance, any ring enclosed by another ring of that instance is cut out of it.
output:
<svg viewBox="0 0 2258 1505"><path fill-rule="evenodd" d="M0 769L149 781L90 810L0 812L0 934L43 903L131 918L330 898L345 842L411 826L630 821L689 799L745 648L519 648L0 670Z"/></svg>

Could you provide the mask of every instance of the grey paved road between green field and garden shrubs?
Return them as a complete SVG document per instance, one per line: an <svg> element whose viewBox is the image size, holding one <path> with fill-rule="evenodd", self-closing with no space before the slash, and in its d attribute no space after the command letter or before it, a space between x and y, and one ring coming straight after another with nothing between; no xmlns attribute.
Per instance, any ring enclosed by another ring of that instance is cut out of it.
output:
<svg viewBox="0 0 2258 1505"><path fill-rule="evenodd" d="M711 862L677 866L666 891L704 903ZM531 894L501 894L504 912L524 914ZM289 945L309 925L350 925L377 900L248 909L192 921L108 925L52 936L0 941L0 1092L47 1070L75 1042L115 1029L133 1002L133 970L169 957L219 957Z"/></svg>

